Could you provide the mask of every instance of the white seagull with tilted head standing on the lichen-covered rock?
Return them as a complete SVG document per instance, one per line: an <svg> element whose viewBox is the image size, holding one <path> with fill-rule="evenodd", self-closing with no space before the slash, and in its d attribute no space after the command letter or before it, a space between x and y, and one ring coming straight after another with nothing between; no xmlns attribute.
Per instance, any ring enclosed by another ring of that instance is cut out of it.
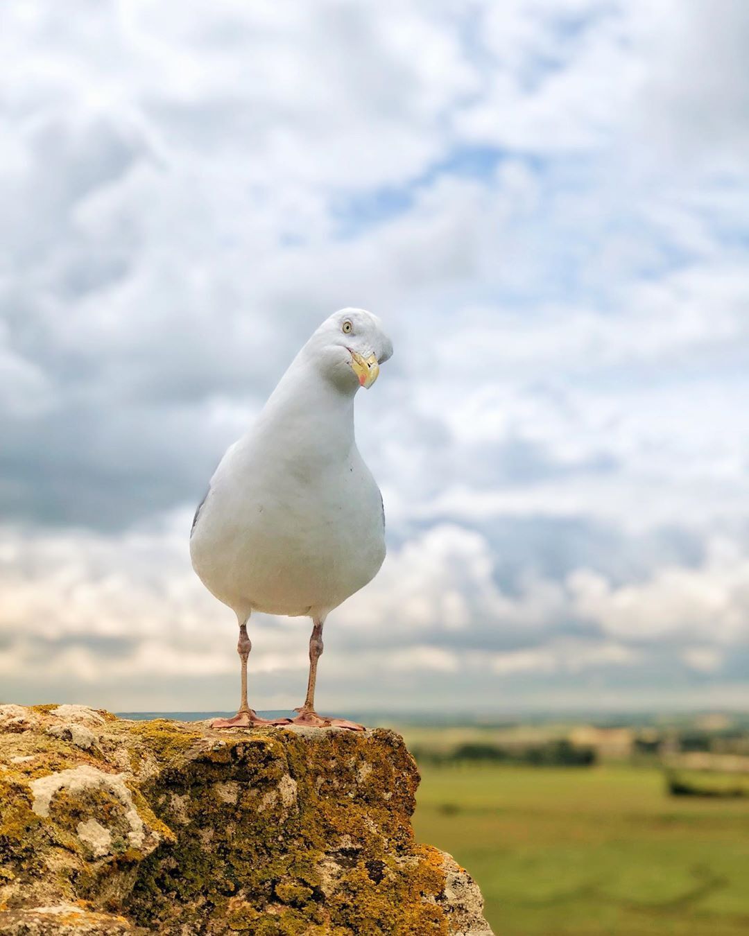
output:
<svg viewBox="0 0 749 936"><path fill-rule="evenodd" d="M354 397L372 387L391 355L376 315L363 309L330 315L211 478L193 520L190 556L206 588L237 615L242 661L240 708L213 727L364 730L318 715L315 683L326 618L385 559L385 510L354 438ZM307 695L293 719L260 718L247 703L253 611L312 619Z"/></svg>

